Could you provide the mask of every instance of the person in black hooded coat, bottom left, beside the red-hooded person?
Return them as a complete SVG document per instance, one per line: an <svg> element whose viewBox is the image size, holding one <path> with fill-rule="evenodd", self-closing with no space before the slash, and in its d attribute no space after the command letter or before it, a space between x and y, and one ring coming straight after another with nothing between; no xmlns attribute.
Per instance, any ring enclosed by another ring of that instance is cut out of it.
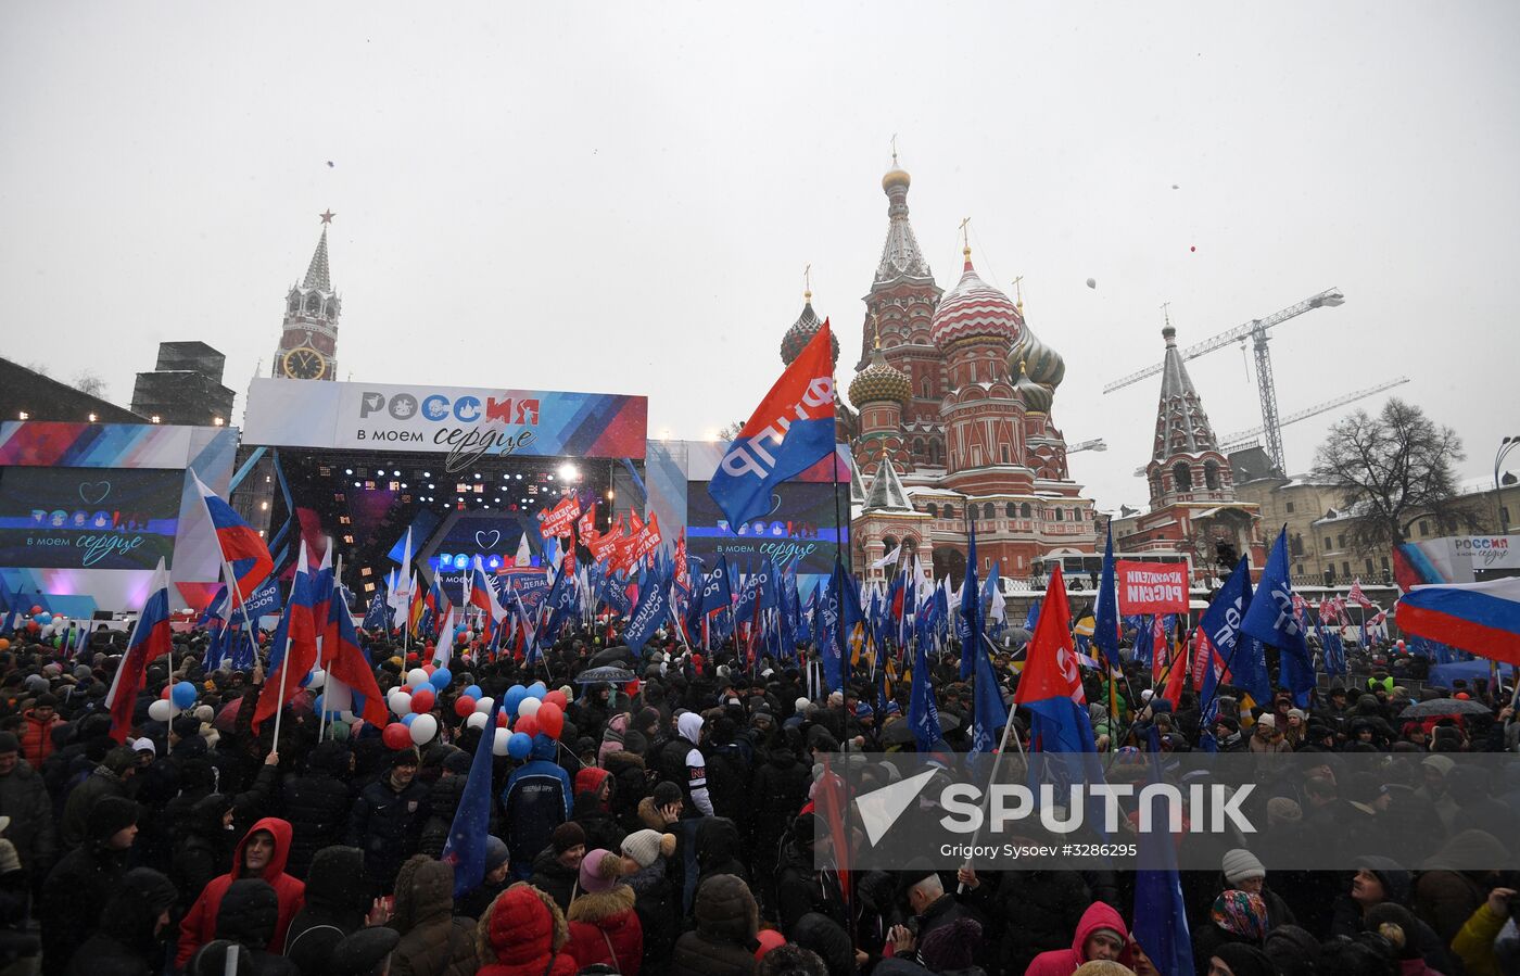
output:
<svg viewBox="0 0 1520 976"><path fill-rule="evenodd" d="M100 929L68 962L68 976L154 976L164 968L178 892L150 868L132 868L100 912Z"/></svg>

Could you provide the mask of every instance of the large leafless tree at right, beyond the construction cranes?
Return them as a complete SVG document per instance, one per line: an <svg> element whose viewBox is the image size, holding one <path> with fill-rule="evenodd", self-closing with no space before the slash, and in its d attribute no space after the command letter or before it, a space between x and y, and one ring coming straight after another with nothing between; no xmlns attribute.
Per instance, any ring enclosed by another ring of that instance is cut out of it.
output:
<svg viewBox="0 0 1520 976"><path fill-rule="evenodd" d="M1424 410L1392 397L1377 417L1357 410L1330 429L1315 452L1315 473L1341 493L1359 553L1388 552L1420 518L1442 529L1471 521L1458 499L1456 471L1462 439Z"/></svg>

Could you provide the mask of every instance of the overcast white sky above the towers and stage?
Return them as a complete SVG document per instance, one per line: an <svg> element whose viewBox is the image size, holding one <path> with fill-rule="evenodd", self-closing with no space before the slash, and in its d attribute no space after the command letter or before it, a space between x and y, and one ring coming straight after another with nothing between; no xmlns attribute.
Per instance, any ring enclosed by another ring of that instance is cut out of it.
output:
<svg viewBox="0 0 1520 976"><path fill-rule="evenodd" d="M126 403L202 339L240 414L330 207L340 379L638 392L702 438L775 380L807 263L848 383L895 132L939 284L965 216L1024 277L1100 506L1145 500L1160 380L1099 391L1161 303L1189 344L1330 286L1272 344L1281 410L1404 374L1482 477L1520 433L1517 43L1509 2L9 3L0 354ZM1239 351L1190 368L1219 433L1260 423Z"/></svg>

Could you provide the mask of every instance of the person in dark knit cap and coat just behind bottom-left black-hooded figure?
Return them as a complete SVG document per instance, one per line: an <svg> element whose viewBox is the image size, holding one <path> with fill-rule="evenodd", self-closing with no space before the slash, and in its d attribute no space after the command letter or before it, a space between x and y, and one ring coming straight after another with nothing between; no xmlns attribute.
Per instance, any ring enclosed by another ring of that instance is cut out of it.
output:
<svg viewBox="0 0 1520 976"><path fill-rule="evenodd" d="M74 950L94 935L100 911L116 894L137 839L137 804L102 797L90 807L85 841L53 867L43 883L43 973L68 971Z"/></svg>

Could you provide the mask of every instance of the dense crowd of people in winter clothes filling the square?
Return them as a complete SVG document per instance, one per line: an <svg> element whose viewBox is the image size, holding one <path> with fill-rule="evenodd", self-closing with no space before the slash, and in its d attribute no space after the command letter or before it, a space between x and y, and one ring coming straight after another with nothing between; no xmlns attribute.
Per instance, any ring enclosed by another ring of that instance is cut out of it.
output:
<svg viewBox="0 0 1520 976"><path fill-rule="evenodd" d="M0 974L1164 971L1132 935L1149 909L1128 871L830 867L821 757L912 748L892 734L906 681L885 708L866 675L810 698L793 660L666 640L622 658L634 681L579 683L593 655L608 658L606 637L564 637L530 669L461 649L436 736L407 748L360 721L319 721L310 692L286 707L277 743L274 722L252 725L264 675L205 672L204 634L176 635L149 664L119 742L103 701L123 634L96 632L76 654L12 639L0 649ZM427 663L391 635L368 654L382 692ZM974 689L953 649L930 667L941 715L962 719L945 722L958 725L947 742L965 751ZM994 673L1006 698L1012 661ZM1462 690L1487 713L1404 722L1421 695L1382 670L1309 707L1284 695L1242 708L1227 686L1201 728L1190 690L1135 695L1142 677L1088 677L1099 749L1181 753L1210 733L1225 753L1324 753L1268 803L1274 829L1421 825L1418 848L1366 854L1354 873L1269 876L1249 844L1184 871L1198 973L1520 973L1520 898L1503 870L1520 844L1520 778L1462 765L1517 749L1502 689ZM459 891L444 853L482 730L453 702L468 686L500 701L534 680L564 690L565 721L521 760L494 759L485 877ZM152 721L179 681L198 702ZM1012 731L1026 736L1021 718ZM1335 760L1356 753L1427 754L1423 781L1338 777ZM1458 850L1488 868L1442 870Z"/></svg>

